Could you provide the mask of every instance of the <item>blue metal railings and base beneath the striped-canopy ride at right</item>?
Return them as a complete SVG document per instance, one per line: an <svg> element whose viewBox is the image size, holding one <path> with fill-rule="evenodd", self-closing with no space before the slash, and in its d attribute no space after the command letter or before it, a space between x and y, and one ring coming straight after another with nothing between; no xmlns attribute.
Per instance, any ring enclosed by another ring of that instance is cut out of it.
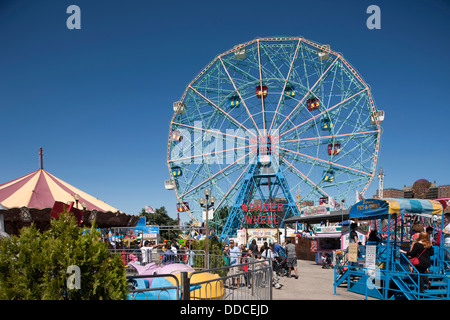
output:
<svg viewBox="0 0 450 320"><path fill-rule="evenodd" d="M420 274L409 262L399 247L377 245L376 270L365 267L366 247L358 247L358 262L349 262L346 250L336 261L334 268L334 293L336 288L347 284L352 292L379 299L446 299L450 298L450 256L449 248L435 247L429 274ZM428 276L429 288L420 288L420 277ZM423 291L423 292L422 292Z"/></svg>

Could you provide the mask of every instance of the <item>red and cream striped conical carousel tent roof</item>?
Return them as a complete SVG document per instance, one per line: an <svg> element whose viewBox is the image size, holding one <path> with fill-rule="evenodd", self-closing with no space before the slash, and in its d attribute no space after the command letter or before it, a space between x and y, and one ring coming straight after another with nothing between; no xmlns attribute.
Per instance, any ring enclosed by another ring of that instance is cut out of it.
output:
<svg viewBox="0 0 450 320"><path fill-rule="evenodd" d="M0 184L0 203L11 208L52 208L55 201L75 201L74 196L79 195L79 207L86 210L102 212L118 212L119 210L97 198L81 191L67 182L55 177L44 169L36 170L21 178Z"/></svg>

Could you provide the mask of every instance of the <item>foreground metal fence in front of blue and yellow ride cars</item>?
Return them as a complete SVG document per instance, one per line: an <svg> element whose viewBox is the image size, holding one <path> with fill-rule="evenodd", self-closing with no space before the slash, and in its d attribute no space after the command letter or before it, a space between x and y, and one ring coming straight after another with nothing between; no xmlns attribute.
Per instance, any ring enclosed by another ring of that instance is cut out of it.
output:
<svg viewBox="0 0 450 320"><path fill-rule="evenodd" d="M175 274L127 276L129 298L138 300L271 300L273 269L270 260L249 259L224 266L221 255L197 251L191 262L195 271ZM158 258L153 257L153 262ZM180 262L183 263L183 262ZM212 267L212 268L211 268ZM157 285L155 283L157 282Z"/></svg>

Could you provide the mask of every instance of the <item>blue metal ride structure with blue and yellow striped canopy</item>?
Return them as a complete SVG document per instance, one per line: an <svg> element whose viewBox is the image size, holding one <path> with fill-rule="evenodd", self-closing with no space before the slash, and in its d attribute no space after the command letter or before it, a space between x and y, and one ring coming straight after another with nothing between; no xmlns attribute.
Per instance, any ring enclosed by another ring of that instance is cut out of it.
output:
<svg viewBox="0 0 450 320"><path fill-rule="evenodd" d="M413 221L431 226L442 238L444 213L438 201L425 199L364 199L349 211L353 221L372 220L379 241L349 246L334 269L334 290L346 285L347 290L383 300L426 300L450 298L449 248L444 241L434 245L431 266L421 274L402 251L412 243ZM447 258L448 259L448 258ZM424 290L420 277L428 276Z"/></svg>

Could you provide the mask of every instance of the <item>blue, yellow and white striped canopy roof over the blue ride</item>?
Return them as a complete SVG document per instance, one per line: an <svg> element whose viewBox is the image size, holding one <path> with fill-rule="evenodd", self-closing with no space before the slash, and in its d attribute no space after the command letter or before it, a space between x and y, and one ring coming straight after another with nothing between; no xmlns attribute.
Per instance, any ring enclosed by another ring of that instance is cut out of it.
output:
<svg viewBox="0 0 450 320"><path fill-rule="evenodd" d="M427 199L364 199L350 208L350 219L385 219L391 214L407 213L431 218L442 215L442 205Z"/></svg>

